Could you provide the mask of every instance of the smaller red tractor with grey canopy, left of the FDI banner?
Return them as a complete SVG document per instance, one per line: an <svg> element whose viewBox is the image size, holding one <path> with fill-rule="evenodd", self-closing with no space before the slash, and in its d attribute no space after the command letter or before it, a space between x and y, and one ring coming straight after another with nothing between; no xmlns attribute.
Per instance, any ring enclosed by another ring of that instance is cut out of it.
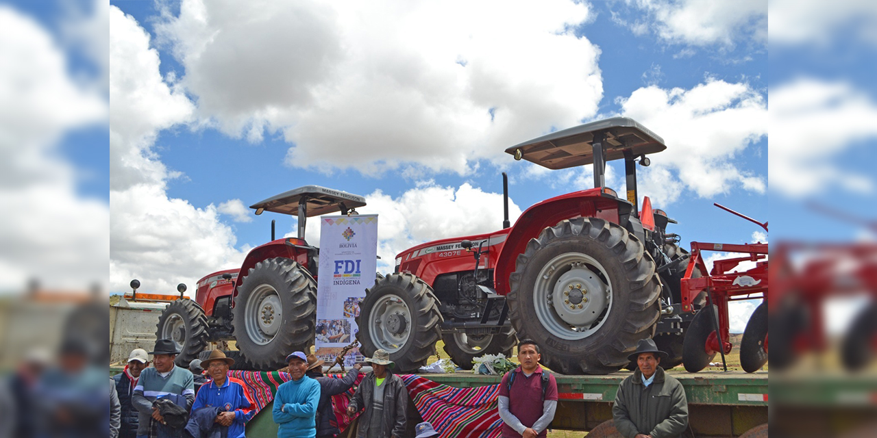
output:
<svg viewBox="0 0 877 438"><path fill-rule="evenodd" d="M366 205L356 194L305 186L253 204L256 215L273 211L298 218L298 237L253 248L240 269L213 272L198 280L196 299L175 300L161 314L156 336L174 340L189 361L210 342L234 339L236 364L277 369L290 351L310 349L317 321L319 249L304 240L308 217L354 213Z"/></svg>

